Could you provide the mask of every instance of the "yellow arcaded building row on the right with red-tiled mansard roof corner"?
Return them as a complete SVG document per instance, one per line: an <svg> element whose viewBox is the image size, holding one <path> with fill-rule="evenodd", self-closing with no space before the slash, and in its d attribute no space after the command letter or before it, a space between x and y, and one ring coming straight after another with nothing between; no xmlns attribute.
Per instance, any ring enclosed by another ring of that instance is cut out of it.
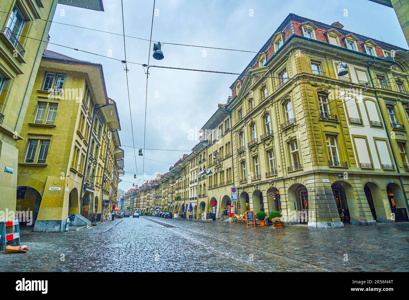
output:
<svg viewBox="0 0 409 300"><path fill-rule="evenodd" d="M223 219L236 187L236 213L279 210L287 224L407 221L407 52L339 22L288 15L192 153L162 178L170 184L166 209L192 203L199 217L215 202ZM184 174L188 201L178 182Z"/></svg>

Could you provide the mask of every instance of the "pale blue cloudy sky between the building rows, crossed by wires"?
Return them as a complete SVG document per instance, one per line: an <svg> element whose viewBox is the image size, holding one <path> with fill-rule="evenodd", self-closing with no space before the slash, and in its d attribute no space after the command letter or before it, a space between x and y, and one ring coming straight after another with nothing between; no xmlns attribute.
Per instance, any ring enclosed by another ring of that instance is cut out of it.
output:
<svg viewBox="0 0 409 300"><path fill-rule="evenodd" d="M58 5L54 21L122 33L121 1L103 0L103 4L104 12ZM288 13L295 13L327 24L339 21L344 29L407 48L393 9L368 0L157 0L155 7L158 16L154 18L152 39L160 42L258 51ZM254 16L249 16L250 9ZM348 16L344 16L344 9L348 9ZM153 0L124 0L125 34L149 39L152 10ZM124 59L122 36L56 23L49 34L53 43ZM52 44L48 49L103 64L108 96L117 102L122 127L120 138L128 173L122 177L120 188L127 190L133 182L141 184L142 178L150 180L154 177L151 174L168 171L185 153L146 150L145 161L136 158L139 182L134 180L133 149L125 147L132 146L133 141L121 62ZM151 64L241 72L254 57L254 53L213 49L207 49L204 56L202 48L169 44L162 50L164 60L151 59ZM148 51L149 41L126 38L128 62L147 63ZM128 64L128 69L135 146L143 147L146 75L139 65ZM236 76L155 68L150 73L145 147L188 152L197 142L189 139L189 132L200 129L217 104L226 102Z"/></svg>

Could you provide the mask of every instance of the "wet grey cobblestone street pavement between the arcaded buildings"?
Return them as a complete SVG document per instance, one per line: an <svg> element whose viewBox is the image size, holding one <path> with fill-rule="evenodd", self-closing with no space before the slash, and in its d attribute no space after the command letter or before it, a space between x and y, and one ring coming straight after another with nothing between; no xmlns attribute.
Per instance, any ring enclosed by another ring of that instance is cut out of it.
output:
<svg viewBox="0 0 409 300"><path fill-rule="evenodd" d="M0 271L409 271L407 222L274 229L141 217L23 232L21 243L29 252L0 253Z"/></svg>

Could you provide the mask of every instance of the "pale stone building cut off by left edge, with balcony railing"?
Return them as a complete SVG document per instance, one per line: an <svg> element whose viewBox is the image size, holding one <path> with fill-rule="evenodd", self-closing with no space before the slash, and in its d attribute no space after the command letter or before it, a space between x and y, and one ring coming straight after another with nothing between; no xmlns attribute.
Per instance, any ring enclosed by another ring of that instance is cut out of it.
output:
<svg viewBox="0 0 409 300"><path fill-rule="evenodd" d="M0 211L16 210L18 149L30 92L57 4L103 11L102 0L2 0L0 13ZM1 214L0 218L3 218ZM1 219L0 219L1 220Z"/></svg>

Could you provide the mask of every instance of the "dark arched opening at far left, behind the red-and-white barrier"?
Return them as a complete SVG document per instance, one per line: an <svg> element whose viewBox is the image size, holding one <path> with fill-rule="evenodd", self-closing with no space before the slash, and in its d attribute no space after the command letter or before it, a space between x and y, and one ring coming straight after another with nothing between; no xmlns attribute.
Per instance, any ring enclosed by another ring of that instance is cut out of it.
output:
<svg viewBox="0 0 409 300"><path fill-rule="evenodd" d="M26 219L21 223L34 226L42 200L40 193L32 187L18 187L16 199L16 210L26 212Z"/></svg>

